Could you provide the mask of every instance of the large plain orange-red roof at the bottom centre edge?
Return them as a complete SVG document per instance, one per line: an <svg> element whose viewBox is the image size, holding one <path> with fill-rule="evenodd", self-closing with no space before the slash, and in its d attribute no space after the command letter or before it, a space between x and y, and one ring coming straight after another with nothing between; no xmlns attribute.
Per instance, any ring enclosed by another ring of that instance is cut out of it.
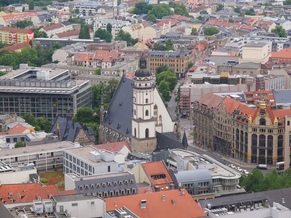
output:
<svg viewBox="0 0 291 218"><path fill-rule="evenodd" d="M165 196L165 201L162 201L163 195ZM141 200L146 200L146 208L141 208ZM175 204L173 204L174 200ZM179 194L179 190L176 189L118 198L108 198L105 199L105 201L106 211L114 211L116 206L117 208L122 208L125 206L140 218L207 217L186 190L184 190L184 194Z"/></svg>

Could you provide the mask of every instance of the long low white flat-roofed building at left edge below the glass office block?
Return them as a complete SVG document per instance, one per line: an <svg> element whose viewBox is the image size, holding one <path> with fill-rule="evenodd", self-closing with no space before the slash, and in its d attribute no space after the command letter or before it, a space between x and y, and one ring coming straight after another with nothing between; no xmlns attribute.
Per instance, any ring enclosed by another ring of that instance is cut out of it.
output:
<svg viewBox="0 0 291 218"><path fill-rule="evenodd" d="M34 164L39 171L48 171L54 168L63 168L63 150L78 148L79 144L69 141L14 148L0 151L0 160L10 166Z"/></svg>

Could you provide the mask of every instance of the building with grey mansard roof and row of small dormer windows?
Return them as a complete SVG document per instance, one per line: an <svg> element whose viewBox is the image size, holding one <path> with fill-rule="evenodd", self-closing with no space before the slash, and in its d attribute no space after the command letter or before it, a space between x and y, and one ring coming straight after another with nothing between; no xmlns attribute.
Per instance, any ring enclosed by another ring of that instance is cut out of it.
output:
<svg viewBox="0 0 291 218"><path fill-rule="evenodd" d="M65 190L72 189L80 194L96 194L100 198L137 194L134 175L130 172L110 172L90 176L65 174Z"/></svg>

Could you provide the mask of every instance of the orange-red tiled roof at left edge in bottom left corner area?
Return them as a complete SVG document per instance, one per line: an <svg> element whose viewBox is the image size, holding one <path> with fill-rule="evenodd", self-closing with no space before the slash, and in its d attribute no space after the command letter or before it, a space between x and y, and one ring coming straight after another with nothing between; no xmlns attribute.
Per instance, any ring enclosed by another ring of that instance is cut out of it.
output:
<svg viewBox="0 0 291 218"><path fill-rule="evenodd" d="M32 202L37 200L37 197L41 197L41 200L43 200L49 199L49 195L59 195L58 189L54 185L46 187L42 187L38 183L1 185L0 198L5 203L11 203L9 192L12 192L13 202ZM1 203L2 201L0 201Z"/></svg>

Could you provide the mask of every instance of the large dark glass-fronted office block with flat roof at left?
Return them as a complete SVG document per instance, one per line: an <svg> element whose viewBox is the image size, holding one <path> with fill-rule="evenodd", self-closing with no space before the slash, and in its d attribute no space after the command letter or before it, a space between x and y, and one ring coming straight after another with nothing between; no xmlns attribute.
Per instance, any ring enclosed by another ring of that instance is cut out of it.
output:
<svg viewBox="0 0 291 218"><path fill-rule="evenodd" d="M83 107L92 107L91 85L88 80L72 81L68 70L34 68L20 69L0 77L0 111L36 118L45 116L53 122Z"/></svg>

